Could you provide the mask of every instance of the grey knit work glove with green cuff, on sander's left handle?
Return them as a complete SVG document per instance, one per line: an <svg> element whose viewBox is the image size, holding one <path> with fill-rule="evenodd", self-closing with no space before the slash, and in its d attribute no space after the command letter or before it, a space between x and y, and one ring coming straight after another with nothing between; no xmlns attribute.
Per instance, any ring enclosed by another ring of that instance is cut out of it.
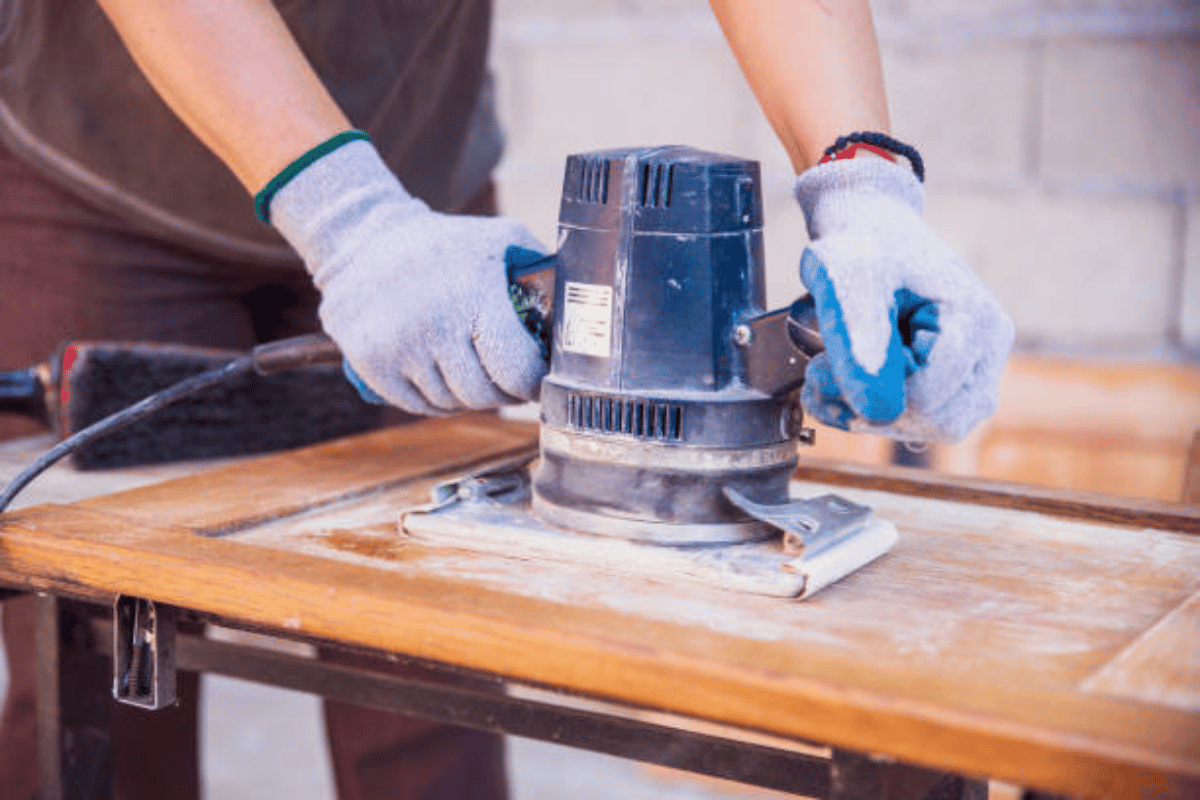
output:
<svg viewBox="0 0 1200 800"><path fill-rule="evenodd" d="M512 245L545 251L523 225L432 211L364 140L292 178L270 219L320 289L320 323L348 372L371 392L425 415L536 397L547 365L504 266Z"/></svg>

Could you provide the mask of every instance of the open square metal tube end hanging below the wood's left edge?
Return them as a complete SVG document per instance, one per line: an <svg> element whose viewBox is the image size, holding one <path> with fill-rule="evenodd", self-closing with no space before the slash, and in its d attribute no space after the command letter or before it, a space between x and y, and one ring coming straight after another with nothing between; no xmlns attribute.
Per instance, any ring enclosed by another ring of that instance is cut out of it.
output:
<svg viewBox="0 0 1200 800"><path fill-rule="evenodd" d="M113 603L113 699L140 709L175 704L175 607L142 597Z"/></svg>

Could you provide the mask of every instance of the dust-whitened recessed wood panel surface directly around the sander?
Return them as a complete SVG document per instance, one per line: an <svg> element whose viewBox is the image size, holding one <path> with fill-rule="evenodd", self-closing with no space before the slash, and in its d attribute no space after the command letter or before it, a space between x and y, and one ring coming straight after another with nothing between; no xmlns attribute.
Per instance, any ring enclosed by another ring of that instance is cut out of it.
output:
<svg viewBox="0 0 1200 800"><path fill-rule="evenodd" d="M840 493L900 529L878 561L797 602L721 591L672 576L641 579L587 565L408 543L410 487L239 534L247 545L494 589L550 604L608 609L682 628L774 643L796 654L902 664L972 681L1078 686L1200 591L1200 541L888 493Z"/></svg>

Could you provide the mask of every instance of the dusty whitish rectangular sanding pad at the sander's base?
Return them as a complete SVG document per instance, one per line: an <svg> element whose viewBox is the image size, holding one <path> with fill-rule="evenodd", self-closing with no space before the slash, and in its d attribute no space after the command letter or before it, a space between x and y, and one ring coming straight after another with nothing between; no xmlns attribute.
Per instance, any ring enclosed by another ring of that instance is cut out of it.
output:
<svg viewBox="0 0 1200 800"><path fill-rule="evenodd" d="M440 485L432 503L401 513L400 531L438 547L800 600L883 555L898 539L895 525L874 517L810 555L786 552L782 535L704 546L601 536L559 528L539 517L530 507L527 477L503 471Z"/></svg>

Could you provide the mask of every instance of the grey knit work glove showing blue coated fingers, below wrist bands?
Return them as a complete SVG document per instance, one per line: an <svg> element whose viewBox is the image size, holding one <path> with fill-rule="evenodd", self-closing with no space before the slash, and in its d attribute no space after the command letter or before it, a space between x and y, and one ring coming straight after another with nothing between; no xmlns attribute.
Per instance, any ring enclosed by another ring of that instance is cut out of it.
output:
<svg viewBox="0 0 1200 800"><path fill-rule="evenodd" d="M907 167L858 157L796 181L811 245L800 279L824 353L800 401L821 422L912 443L962 439L996 409L1013 321L922 218Z"/></svg>

